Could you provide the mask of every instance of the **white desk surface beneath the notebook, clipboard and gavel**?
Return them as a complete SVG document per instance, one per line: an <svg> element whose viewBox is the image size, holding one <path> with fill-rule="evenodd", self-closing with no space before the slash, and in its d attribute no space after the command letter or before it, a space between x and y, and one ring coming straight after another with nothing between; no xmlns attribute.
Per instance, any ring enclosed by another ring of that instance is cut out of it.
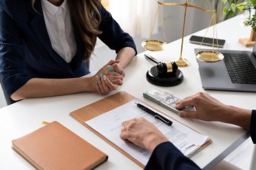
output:
<svg viewBox="0 0 256 170"><path fill-rule="evenodd" d="M224 49L230 50L251 50L245 48L238 43L238 38L249 37L251 28L245 28L238 24L239 17L234 17L226 22L218 24L218 38L226 39ZM187 26L188 27L188 26ZM208 32L210 32L209 30ZM197 36L203 36L205 30L195 33ZM212 34L211 34L212 35ZM184 81L175 87L158 87L165 91L170 91L177 97L184 98L193 95L199 91L203 91L201 87L201 79L197 67L197 61L194 56L194 48L198 45L190 44L189 37L184 40L183 57L187 58L191 65L189 67L180 68L184 74ZM205 46L203 46L205 48ZM147 52L158 58L162 62L168 62L177 58L180 54L181 40L177 40L168 44L168 49L162 52ZM160 105L144 99L143 91L156 87L148 83L146 80L146 72L155 64L146 60L143 53L138 54L131 64L125 69L126 77L124 85L119 87L117 91L127 91L131 95L141 99L142 101L152 105L162 112L172 116L186 124L187 126L201 132L212 138L213 142L202 151L191 157L199 167L203 169L211 169L216 163L221 161L228 153L234 150L236 146L241 144L248 136L247 132L237 126L222 124L219 122L203 122L199 120L188 120L180 118L177 114L173 114L169 110L162 108ZM111 95L116 93L109 93ZM231 92L231 91L208 91L213 97L220 101L236 105L241 108L255 108L255 93ZM20 155L11 149L11 140L24 136L43 126L41 122L52 122L57 120L75 134L81 136L101 151L109 156L109 159L97 169L141 169L127 157L119 153L112 146L104 142L101 138L90 132L87 128L79 124L76 120L69 116L73 110L82 108L107 95L98 95L97 93L77 93L74 95L63 95L59 97L46 97L40 99L25 99L13 105L9 105L0 110L0 169L34 169L30 163L25 161Z"/></svg>

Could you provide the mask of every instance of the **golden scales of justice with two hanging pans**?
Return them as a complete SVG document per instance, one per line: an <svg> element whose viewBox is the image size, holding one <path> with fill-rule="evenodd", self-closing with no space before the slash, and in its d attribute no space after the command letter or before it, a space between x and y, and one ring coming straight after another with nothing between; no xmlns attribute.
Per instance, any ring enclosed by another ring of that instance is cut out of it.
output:
<svg viewBox="0 0 256 170"><path fill-rule="evenodd" d="M212 19L210 21L209 26L207 27L207 30L210 28L210 25L214 24L214 36L216 35L216 40L217 40L217 47L218 47L218 37L217 37L217 31L216 31L216 10L215 9L205 9L203 7L198 7L195 5L190 5L187 0L185 0L185 3L162 3L158 1L158 8L156 10L156 15L154 17L154 22L151 28L151 32L150 32L150 38L146 41L143 41L141 43L141 46L143 46L143 48L145 48L146 50L150 50L150 51L160 51L160 50L165 50L166 49L166 36L164 33L164 26L163 26L163 22L162 22L162 16L161 16L161 11L160 11L160 5L164 5L164 6L183 6L185 7L185 13L184 13L184 21L183 21L183 32L182 32L182 39L181 39L181 54L179 56L179 58L174 59L174 61L177 63L177 65L179 67L187 67L189 66L189 61L186 60L185 58L182 57L182 53L183 53L183 38L184 38L184 33L185 33L185 24L186 24L186 15L187 15L187 7L193 7L196 9L201 9L203 11L207 11L209 13L212 13ZM160 40L152 40L151 36L152 36L152 32L154 29L154 25L156 22L156 16L159 12L160 15L160 22L162 25L162 31L164 34L164 42L160 41ZM205 32L205 35L207 33L207 30ZM203 37L205 37L205 35ZM203 42L203 40L202 40ZM201 44L202 44L201 42ZM199 46L199 48L201 48L201 44ZM217 62L220 61L224 58L223 54L221 54L220 52L216 52L214 51L214 38L213 38L213 42L212 42L212 50L207 50L207 51L197 51L197 53L195 54L196 58L198 60L201 60L203 62Z"/></svg>

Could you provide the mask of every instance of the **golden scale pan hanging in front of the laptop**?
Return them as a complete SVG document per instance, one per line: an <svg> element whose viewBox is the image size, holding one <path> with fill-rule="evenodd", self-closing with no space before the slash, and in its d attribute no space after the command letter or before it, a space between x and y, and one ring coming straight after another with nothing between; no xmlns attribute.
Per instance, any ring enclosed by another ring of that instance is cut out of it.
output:
<svg viewBox="0 0 256 170"><path fill-rule="evenodd" d="M224 58L222 53L213 51L200 51L195 56L202 62L218 62Z"/></svg>

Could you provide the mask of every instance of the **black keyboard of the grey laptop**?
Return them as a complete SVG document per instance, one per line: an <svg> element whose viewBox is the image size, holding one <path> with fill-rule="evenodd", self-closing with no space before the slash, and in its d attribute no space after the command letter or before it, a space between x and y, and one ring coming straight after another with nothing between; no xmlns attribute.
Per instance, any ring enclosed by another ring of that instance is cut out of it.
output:
<svg viewBox="0 0 256 170"><path fill-rule="evenodd" d="M248 54L222 54L232 83L256 85L256 69Z"/></svg>

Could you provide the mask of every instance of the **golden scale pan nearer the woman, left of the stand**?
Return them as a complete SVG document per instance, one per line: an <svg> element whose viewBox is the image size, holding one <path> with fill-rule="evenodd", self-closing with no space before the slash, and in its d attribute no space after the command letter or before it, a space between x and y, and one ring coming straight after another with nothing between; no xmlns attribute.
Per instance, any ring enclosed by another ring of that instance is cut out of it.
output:
<svg viewBox="0 0 256 170"><path fill-rule="evenodd" d="M162 51L166 49L166 42L158 40L146 40L141 42L141 46L149 51Z"/></svg>

